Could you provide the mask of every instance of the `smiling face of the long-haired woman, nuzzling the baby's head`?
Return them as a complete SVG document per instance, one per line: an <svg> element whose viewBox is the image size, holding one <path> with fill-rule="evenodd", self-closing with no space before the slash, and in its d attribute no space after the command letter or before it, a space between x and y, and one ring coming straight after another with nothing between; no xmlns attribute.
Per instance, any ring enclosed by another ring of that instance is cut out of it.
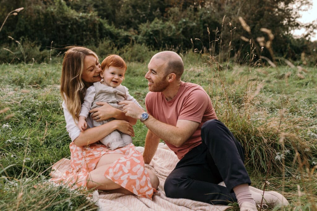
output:
<svg viewBox="0 0 317 211"><path fill-rule="evenodd" d="M101 80L100 77L101 65L94 55L87 55L84 59L84 69L81 74L81 79L86 82L87 86Z"/></svg>

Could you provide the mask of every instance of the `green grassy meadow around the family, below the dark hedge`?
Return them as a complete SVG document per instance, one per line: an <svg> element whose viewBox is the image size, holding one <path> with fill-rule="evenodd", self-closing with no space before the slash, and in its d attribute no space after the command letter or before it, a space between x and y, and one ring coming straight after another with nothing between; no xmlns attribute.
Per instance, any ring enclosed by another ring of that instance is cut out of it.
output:
<svg viewBox="0 0 317 211"><path fill-rule="evenodd" d="M218 118L246 149L253 185L282 192L290 202L285 210L316 210L316 67L229 63L219 71L206 55L183 59L183 81L204 87ZM128 62L123 82L143 107L147 62ZM60 64L0 65L0 210L97 209L89 192L34 188L49 179L54 162L70 156L60 74ZM144 146L146 127L138 121L134 130L133 143Z"/></svg>

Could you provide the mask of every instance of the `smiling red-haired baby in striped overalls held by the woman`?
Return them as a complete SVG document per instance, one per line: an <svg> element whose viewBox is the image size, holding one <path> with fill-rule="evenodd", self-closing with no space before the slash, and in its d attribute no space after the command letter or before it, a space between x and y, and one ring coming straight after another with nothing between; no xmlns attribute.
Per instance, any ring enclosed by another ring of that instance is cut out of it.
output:
<svg viewBox="0 0 317 211"><path fill-rule="evenodd" d="M107 56L101 63L100 76L103 80L94 83L86 91L84 102L81 105L81 112L79 114L78 127L81 131L87 128L86 118L89 110L100 107L96 102L107 102L114 108L121 109L123 105L118 105L118 102L129 100L136 103L142 108L139 103L129 95L128 89L122 86L122 80L126 72L126 62L118 55ZM104 123L114 120L110 118L104 121L96 121L92 119L94 126L100 126ZM130 135L114 130L112 133L100 140L111 150L123 147L132 143Z"/></svg>

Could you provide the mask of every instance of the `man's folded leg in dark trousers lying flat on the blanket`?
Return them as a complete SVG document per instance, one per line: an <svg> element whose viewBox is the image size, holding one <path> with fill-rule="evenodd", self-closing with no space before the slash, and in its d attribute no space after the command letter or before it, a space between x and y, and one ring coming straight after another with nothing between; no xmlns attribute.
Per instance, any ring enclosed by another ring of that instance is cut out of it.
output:
<svg viewBox="0 0 317 211"><path fill-rule="evenodd" d="M171 198L187 198L210 204L236 202L234 193L224 186L217 169L207 164L207 148L201 144L182 158L164 184L165 194Z"/></svg>

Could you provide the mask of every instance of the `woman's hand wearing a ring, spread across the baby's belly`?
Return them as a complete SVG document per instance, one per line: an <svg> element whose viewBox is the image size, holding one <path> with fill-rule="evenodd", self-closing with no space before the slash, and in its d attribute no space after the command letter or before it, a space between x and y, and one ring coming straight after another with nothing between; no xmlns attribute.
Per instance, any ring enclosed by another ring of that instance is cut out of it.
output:
<svg viewBox="0 0 317 211"><path fill-rule="evenodd" d="M113 108L107 102L96 102L97 105L100 105L98 108L91 109L89 112L93 113L91 118L96 121L103 121L110 118L114 118L119 109Z"/></svg>

